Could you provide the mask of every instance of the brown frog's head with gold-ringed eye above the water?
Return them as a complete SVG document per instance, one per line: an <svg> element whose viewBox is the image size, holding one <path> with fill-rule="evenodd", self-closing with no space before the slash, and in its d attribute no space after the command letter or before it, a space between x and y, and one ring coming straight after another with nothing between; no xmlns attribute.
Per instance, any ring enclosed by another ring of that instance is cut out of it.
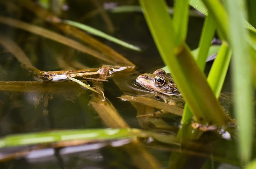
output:
<svg viewBox="0 0 256 169"><path fill-rule="evenodd" d="M142 74L136 79L140 86L164 95L176 95L178 92L177 86L170 75L166 75L165 71L158 69L153 74Z"/></svg>

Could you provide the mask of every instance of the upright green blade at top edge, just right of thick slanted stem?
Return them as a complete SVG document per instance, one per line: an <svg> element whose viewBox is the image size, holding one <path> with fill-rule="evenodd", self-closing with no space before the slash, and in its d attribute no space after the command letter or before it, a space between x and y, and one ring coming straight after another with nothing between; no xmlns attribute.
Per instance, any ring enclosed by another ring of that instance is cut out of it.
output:
<svg viewBox="0 0 256 169"><path fill-rule="evenodd" d="M176 44L180 45L186 40L188 24L188 0L174 1L174 29L176 31Z"/></svg>

